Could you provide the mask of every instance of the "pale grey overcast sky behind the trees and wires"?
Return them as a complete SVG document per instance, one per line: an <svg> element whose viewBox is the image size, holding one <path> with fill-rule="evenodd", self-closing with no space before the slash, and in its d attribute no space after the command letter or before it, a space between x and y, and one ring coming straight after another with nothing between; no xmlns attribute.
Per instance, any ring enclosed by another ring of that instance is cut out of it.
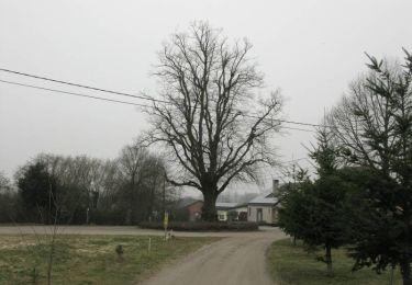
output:
<svg viewBox="0 0 412 285"><path fill-rule="evenodd" d="M366 70L364 52L401 58L401 47L412 50L411 11L411 0L1 0L0 68L156 92L156 50L171 33L205 20L253 43L266 84L287 99L287 118L320 123ZM0 80L110 98L4 72ZM0 82L0 171L12 175L40 152L114 158L145 126L133 106ZM278 140L282 159L305 157L302 144L311 139L289 130Z"/></svg>

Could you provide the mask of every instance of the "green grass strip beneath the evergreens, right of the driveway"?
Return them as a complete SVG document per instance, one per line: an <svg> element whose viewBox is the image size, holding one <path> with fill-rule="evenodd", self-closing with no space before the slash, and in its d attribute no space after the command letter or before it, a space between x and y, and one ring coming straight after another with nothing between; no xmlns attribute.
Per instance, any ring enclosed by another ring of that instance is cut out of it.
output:
<svg viewBox="0 0 412 285"><path fill-rule="evenodd" d="M333 250L334 276L327 276L326 264L316 261L322 251L308 253L301 244L293 246L289 239L272 243L267 252L268 265L276 284L304 285L388 285L389 271L380 275L370 269L352 272L354 261L346 255L344 249ZM393 274L393 284L402 284L399 271Z"/></svg>

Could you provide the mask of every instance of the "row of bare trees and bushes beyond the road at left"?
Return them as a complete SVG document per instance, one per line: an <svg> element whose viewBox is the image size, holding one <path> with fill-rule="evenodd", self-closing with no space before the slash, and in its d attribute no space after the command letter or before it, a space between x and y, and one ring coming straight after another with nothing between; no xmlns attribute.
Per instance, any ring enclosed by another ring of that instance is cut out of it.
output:
<svg viewBox="0 0 412 285"><path fill-rule="evenodd" d="M0 175L0 223L136 225L160 219L176 192L162 158L138 142L113 160L41 153Z"/></svg>

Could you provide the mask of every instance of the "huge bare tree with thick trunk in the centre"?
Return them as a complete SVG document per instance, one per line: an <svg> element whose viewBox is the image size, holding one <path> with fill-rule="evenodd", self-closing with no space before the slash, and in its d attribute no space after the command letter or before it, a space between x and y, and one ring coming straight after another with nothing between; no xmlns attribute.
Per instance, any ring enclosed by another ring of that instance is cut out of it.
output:
<svg viewBox="0 0 412 285"><path fill-rule="evenodd" d="M279 129L281 98L261 94L250 48L198 22L172 34L158 55L162 89L148 110L151 138L177 162L168 181L202 192L207 220L215 219L215 201L232 181L256 179L257 164L274 163L270 137Z"/></svg>

